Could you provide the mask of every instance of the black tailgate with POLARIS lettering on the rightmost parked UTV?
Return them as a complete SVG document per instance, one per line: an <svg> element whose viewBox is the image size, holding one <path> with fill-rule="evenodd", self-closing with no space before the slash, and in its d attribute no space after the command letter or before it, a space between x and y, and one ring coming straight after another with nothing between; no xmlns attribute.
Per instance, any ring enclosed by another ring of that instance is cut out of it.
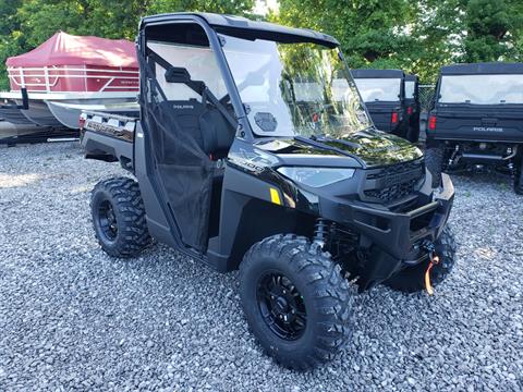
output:
<svg viewBox="0 0 523 392"><path fill-rule="evenodd" d="M523 107L438 107L436 128L427 130L436 139L522 142Z"/></svg>

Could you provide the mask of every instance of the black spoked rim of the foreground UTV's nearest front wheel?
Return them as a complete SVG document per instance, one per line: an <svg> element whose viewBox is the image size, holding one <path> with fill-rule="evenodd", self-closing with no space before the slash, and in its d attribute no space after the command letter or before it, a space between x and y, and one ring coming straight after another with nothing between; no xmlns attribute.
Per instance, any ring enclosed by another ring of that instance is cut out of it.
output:
<svg viewBox="0 0 523 392"><path fill-rule="evenodd" d="M281 273L267 273L256 290L259 311L269 329L279 338L293 341L305 332L305 303L296 286Z"/></svg>

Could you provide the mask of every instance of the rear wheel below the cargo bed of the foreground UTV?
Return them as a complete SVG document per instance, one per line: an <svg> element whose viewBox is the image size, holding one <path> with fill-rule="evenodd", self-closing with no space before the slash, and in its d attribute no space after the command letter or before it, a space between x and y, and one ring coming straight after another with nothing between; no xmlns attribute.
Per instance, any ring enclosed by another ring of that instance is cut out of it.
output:
<svg viewBox="0 0 523 392"><path fill-rule="evenodd" d="M108 255L133 257L150 243L136 181L129 177L100 181L92 193L90 211L96 238Z"/></svg>

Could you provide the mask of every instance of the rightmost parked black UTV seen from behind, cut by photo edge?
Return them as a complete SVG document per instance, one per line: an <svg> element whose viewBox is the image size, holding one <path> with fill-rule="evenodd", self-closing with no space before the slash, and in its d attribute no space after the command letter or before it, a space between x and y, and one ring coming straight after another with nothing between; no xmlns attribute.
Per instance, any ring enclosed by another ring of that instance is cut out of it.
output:
<svg viewBox="0 0 523 392"><path fill-rule="evenodd" d="M495 168L523 194L523 63L441 68L428 117L426 162L441 171Z"/></svg>

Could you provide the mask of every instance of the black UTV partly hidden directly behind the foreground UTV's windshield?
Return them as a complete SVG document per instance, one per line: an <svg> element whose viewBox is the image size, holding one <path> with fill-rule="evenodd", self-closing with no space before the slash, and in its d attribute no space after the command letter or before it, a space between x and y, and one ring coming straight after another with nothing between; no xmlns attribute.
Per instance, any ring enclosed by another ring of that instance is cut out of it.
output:
<svg viewBox="0 0 523 392"><path fill-rule="evenodd" d="M405 74L400 70L352 70L360 95L379 131L408 138Z"/></svg>

